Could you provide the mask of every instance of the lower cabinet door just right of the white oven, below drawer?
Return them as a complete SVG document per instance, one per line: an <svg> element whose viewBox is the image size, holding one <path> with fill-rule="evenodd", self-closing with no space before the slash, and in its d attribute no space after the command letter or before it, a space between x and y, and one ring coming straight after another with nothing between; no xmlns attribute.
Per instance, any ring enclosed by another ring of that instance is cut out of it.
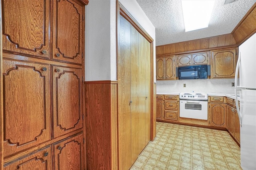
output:
<svg viewBox="0 0 256 170"><path fill-rule="evenodd" d="M226 104L210 104L211 126L226 127Z"/></svg>

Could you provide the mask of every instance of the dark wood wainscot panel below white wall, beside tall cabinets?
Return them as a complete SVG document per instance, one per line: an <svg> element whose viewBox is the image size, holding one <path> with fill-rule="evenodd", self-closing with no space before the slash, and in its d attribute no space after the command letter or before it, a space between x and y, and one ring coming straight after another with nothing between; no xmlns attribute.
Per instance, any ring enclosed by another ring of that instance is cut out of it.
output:
<svg viewBox="0 0 256 170"><path fill-rule="evenodd" d="M88 170L118 168L117 81L85 82Z"/></svg>

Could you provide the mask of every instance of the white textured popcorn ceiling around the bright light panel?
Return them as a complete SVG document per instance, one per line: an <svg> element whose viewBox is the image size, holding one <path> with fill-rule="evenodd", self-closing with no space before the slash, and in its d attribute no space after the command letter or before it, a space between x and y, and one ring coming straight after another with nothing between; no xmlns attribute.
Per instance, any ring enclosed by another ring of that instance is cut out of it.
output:
<svg viewBox="0 0 256 170"><path fill-rule="evenodd" d="M156 45L231 33L256 0L216 0L209 27L185 32L181 0L136 0L156 27ZM202 14L203 15L203 14Z"/></svg>

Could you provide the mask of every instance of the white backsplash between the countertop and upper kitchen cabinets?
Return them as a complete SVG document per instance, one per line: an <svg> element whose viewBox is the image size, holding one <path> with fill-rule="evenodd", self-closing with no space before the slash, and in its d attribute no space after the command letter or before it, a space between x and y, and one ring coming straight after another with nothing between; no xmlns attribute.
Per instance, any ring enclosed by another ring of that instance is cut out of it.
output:
<svg viewBox="0 0 256 170"><path fill-rule="evenodd" d="M232 82L235 82L234 78L156 81L156 92L234 93ZM183 84L186 84L186 87L183 87Z"/></svg>

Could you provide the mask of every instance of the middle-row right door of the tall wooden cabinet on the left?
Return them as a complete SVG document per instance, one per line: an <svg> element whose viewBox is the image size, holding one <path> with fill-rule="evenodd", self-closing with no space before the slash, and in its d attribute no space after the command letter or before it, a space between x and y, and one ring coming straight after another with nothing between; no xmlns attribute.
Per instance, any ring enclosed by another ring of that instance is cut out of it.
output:
<svg viewBox="0 0 256 170"><path fill-rule="evenodd" d="M82 70L52 66L54 138L82 128Z"/></svg>

